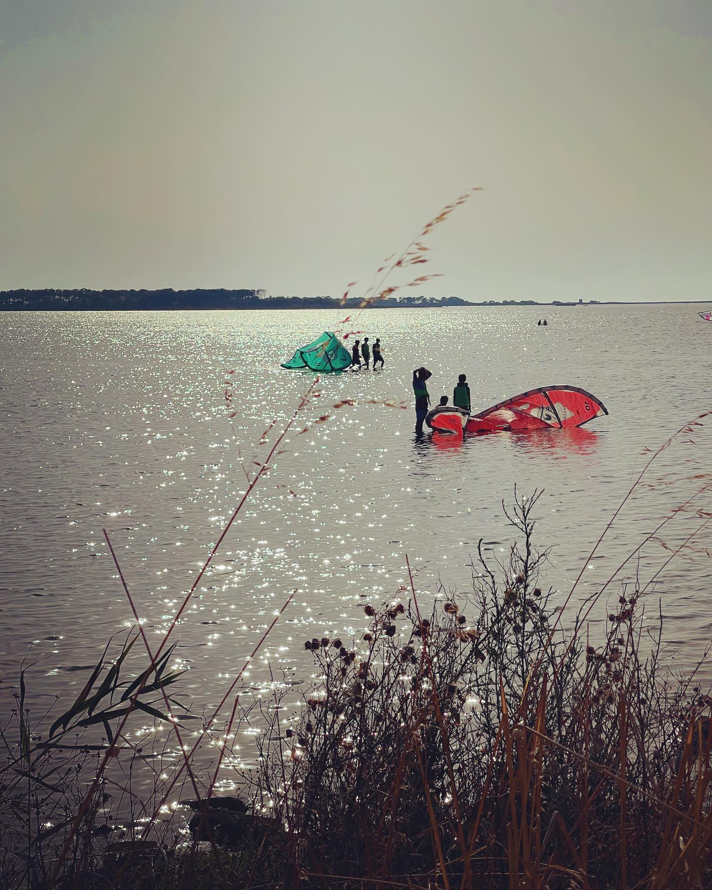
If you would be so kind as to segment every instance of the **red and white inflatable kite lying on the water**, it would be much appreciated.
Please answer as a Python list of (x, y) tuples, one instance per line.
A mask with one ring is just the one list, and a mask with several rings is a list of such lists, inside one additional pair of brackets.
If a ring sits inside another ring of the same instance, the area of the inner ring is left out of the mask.
[(445, 406), (434, 408), (425, 423), (440, 433), (520, 433), (583, 426), (608, 411), (602, 401), (578, 386), (542, 386), (500, 401), (479, 414)]

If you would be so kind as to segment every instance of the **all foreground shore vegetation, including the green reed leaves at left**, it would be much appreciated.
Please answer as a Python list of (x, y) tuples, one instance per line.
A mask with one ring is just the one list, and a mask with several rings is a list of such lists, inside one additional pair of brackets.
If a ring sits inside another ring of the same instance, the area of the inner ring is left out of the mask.
[(602, 639), (580, 621), (562, 631), (558, 597), (539, 587), (536, 499), (518, 499), (519, 542), (504, 564), (480, 554), (471, 591), (441, 590), (425, 614), (411, 583), (365, 607), (359, 638), (305, 641), (317, 671), (300, 713), (286, 691), (233, 711), (226, 763), (235, 721), (263, 729), (258, 769), (235, 766), (241, 799), (198, 787), (187, 760), (190, 809), (159, 821), (165, 789), (125, 796), (133, 818), (113, 839), (104, 774), (80, 813), (101, 752), (68, 733), (108, 723), (118, 756), (121, 701), (140, 689), (144, 715), (161, 717), (151, 696), (179, 680), (167, 658), (143, 682), (121, 678), (123, 659), (102, 664), (83, 691), (92, 708), (44, 742), (19, 702), (15, 732), (3, 728), (0, 885), (708, 886), (712, 700), (662, 666), (640, 586)]

